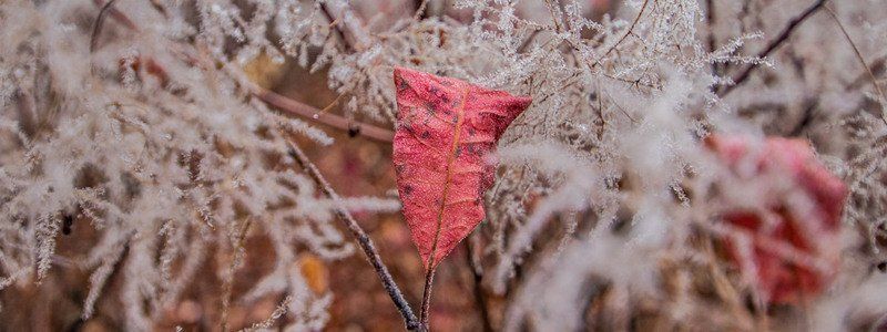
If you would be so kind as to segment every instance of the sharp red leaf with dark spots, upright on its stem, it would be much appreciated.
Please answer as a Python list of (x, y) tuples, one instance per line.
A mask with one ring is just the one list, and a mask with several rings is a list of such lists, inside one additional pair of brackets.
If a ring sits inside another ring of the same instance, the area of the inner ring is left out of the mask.
[(402, 68), (394, 79), (397, 189), (422, 263), (434, 269), (483, 220), (496, 168), (485, 156), (532, 100)]

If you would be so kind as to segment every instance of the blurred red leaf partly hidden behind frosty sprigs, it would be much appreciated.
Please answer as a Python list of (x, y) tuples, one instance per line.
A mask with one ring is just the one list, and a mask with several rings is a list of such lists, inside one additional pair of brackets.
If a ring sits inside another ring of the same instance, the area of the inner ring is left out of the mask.
[[(767, 138), (764, 146), (753, 148), (751, 139), (742, 136), (711, 136), (707, 145), (720, 159), (734, 170), (742, 168), (744, 159), (754, 162), (752, 173), (736, 172), (737, 176), (757, 177), (776, 174), (794, 183), (813, 206), (805, 214), (788, 208), (789, 197), (777, 196), (766, 210), (776, 217), (775, 225), (764, 222), (757, 211), (727, 209), (724, 220), (747, 231), (752, 239), (752, 263), (757, 277), (758, 290), (769, 303), (797, 303), (803, 298), (820, 293), (834, 279), (840, 255), (840, 214), (847, 188), (832, 175), (804, 139)], [(762, 194), (777, 188), (761, 188)], [(776, 191), (781, 193), (781, 191)], [(806, 222), (802, 222), (806, 221)], [(824, 269), (797, 264), (767, 249), (779, 243), (808, 255), (826, 263)], [(740, 261), (740, 252), (731, 241), (726, 247), (732, 259)], [(741, 268), (745, 268), (742, 267)], [(751, 267), (748, 267), (751, 268)]]

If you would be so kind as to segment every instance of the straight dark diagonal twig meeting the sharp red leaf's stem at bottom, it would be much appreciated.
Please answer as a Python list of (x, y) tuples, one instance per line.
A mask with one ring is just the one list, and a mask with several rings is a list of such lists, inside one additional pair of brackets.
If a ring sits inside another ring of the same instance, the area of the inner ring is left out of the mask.
[(348, 230), (354, 235), (357, 239), (358, 245), (360, 245), (360, 249), (364, 250), (364, 253), (369, 259), (369, 262), (373, 264), (373, 268), (376, 269), (376, 274), (379, 276), (381, 279), (381, 283), (385, 287), (385, 290), (388, 292), (388, 295), (391, 297), (391, 300), (395, 302), (397, 310), (400, 311), (400, 315), (404, 317), (404, 321), (406, 321), (407, 330), (420, 330), (419, 320), (416, 318), (416, 314), (412, 313), (412, 309), (409, 307), (409, 302), (404, 298), (404, 294), (400, 292), (400, 289), (397, 287), (397, 283), (391, 278), (391, 273), (388, 272), (388, 268), (381, 261), (381, 257), (379, 257), (379, 252), (376, 250), (376, 246), (373, 245), (373, 240), (367, 236), (360, 225), (357, 224), (357, 220), (351, 217), (351, 214), (345, 209), (341, 205), (341, 199), (333, 190), (333, 187), (329, 186), (329, 183), (320, 175), (320, 170), (317, 169), (317, 166), (312, 164), (308, 157), (305, 155), (302, 149), (295, 145), (289, 144), (289, 156), (298, 163), (298, 165), (312, 177), (312, 179), (317, 184), (320, 188), (320, 191), (326, 195), (327, 198), (334, 201), (335, 212), (336, 216), (339, 217), (341, 221), (345, 222), (345, 226), (348, 227)]

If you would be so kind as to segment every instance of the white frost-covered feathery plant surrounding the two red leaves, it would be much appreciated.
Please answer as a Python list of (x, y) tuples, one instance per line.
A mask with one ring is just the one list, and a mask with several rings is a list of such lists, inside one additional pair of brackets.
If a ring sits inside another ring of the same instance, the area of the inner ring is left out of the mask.
[[(293, 260), (354, 250), (333, 224), (343, 204), (316, 195), (287, 143), (336, 144), (313, 121), (390, 141), (391, 69), (409, 66), (533, 98), (467, 241), (480, 298), (508, 299), (480, 301), (504, 318), (492, 328), (754, 330), (771, 315), (839, 330), (887, 310), (871, 291), (887, 282), (881, 0), (380, 2), (0, 3), (0, 290), (86, 270), (89, 318), (121, 273), (126, 328), (147, 330), (216, 250), (231, 258), (220, 278), (235, 278), (244, 237), (262, 232), (274, 269), (239, 301), (286, 295), (254, 328), (289, 312), (292, 329), (320, 329), (332, 295)], [(248, 82), (256, 56), (325, 71), (345, 113)], [(809, 138), (848, 184), (846, 258), (808, 305), (767, 311), (754, 273), (718, 260), (720, 209), (762, 198), (706, 152), (712, 132)], [(72, 222), (98, 238), (60, 257)]]

